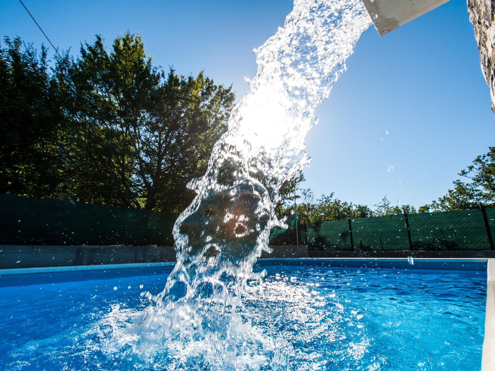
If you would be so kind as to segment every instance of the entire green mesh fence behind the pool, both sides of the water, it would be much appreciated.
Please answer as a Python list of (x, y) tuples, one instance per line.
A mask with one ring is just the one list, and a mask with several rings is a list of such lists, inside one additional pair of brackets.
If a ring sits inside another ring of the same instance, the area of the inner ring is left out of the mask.
[[(0, 244), (172, 246), (176, 218), (177, 214), (148, 210), (0, 194)], [(273, 228), (270, 245), (295, 245), (298, 236), (299, 244), (313, 251), (494, 248), (495, 208), (352, 219), (350, 223), (296, 223), (294, 216), (285, 218), (288, 228)]]

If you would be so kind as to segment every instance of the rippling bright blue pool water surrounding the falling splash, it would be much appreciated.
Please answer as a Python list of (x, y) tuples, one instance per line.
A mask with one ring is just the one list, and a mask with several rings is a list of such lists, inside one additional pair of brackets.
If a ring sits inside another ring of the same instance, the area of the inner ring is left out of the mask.
[[(265, 292), (245, 294), (242, 318), (283, 342), (284, 370), (479, 370), (486, 265), (472, 271), (384, 267), (264, 262), (257, 270), (267, 271)], [(155, 354), (150, 366), (139, 352), (119, 353), (105, 342), (119, 321), (148, 306), (140, 293), (161, 291), (168, 272), (1, 276), (0, 370), (177, 369), (166, 353)], [(277, 369), (272, 350), (255, 352), (243, 355), (242, 366), (206, 367), (198, 358), (183, 369)]]

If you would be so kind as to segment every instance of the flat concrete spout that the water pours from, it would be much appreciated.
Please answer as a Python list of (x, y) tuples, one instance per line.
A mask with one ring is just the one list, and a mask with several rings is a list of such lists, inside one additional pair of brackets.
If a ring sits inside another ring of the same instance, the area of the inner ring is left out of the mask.
[(380, 36), (423, 15), (448, 0), (363, 0)]

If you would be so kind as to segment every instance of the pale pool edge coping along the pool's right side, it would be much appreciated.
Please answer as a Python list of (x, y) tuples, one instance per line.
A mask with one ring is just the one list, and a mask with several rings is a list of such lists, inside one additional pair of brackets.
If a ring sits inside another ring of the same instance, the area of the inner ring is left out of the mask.
[(481, 371), (495, 370), (495, 259), (488, 259), (487, 307), (485, 312), (485, 336), (481, 356)]

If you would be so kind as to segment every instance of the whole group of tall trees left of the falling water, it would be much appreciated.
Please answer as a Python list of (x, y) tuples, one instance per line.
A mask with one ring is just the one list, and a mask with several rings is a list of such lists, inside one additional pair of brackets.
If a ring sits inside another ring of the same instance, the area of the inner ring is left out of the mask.
[(232, 87), (152, 65), (141, 35), (100, 36), (47, 65), (22, 42), (1, 49), (0, 191), (181, 211), (227, 129)]

